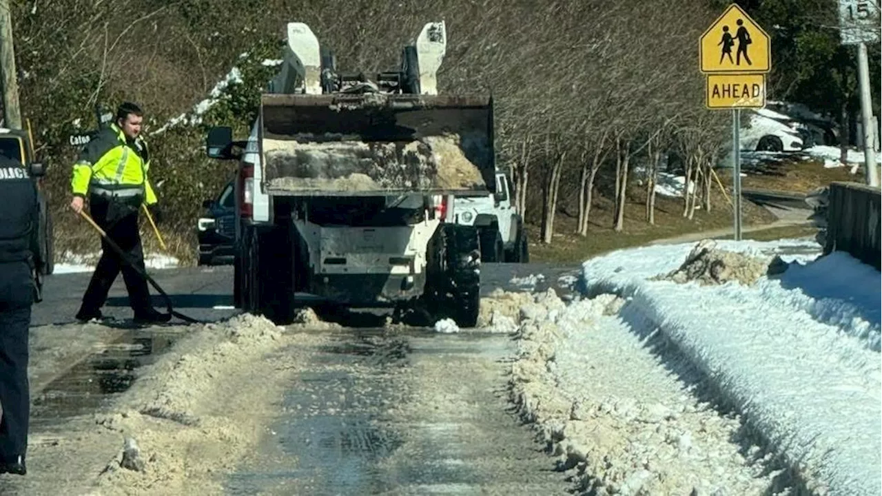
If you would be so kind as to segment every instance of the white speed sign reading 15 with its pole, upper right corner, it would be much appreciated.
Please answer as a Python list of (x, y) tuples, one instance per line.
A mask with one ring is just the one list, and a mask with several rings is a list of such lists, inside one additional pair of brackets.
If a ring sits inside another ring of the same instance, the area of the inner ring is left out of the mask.
[(867, 43), (879, 41), (879, 8), (877, 0), (839, 0), (839, 27), (843, 45), (857, 45), (857, 82), (861, 90), (861, 120), (863, 121), (863, 160), (867, 184), (878, 186), (876, 170), (877, 129), (873, 127), (873, 109), (870, 95), (870, 64)]

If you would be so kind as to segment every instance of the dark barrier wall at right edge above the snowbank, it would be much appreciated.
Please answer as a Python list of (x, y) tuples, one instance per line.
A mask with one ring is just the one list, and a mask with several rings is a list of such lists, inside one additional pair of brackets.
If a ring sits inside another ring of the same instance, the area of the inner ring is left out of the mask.
[(882, 188), (830, 184), (824, 253), (848, 252), (882, 269)]

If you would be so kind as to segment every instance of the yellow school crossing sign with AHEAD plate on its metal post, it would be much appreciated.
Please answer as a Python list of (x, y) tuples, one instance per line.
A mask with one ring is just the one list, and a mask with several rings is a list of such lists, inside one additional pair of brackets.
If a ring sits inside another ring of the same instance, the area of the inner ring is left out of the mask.
[(741, 7), (731, 4), (701, 34), (699, 68), (706, 75), (706, 108), (732, 111), (735, 240), (741, 241), (741, 109), (766, 106), (766, 73), (772, 69), (769, 35)]

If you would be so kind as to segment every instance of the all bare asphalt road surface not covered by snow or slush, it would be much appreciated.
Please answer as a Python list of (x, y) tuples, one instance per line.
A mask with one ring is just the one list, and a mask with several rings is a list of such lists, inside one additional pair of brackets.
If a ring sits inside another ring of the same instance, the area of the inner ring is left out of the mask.
[[(569, 292), (578, 270), (488, 264), (482, 267), (482, 293), (551, 286)], [(232, 267), (151, 274), (179, 312), (204, 320), (239, 312), (228, 308)], [(541, 280), (529, 277), (538, 274)], [(74, 323), (90, 275), (49, 276), (32, 325)], [(159, 297), (154, 304), (164, 307)], [(131, 316), (121, 277), (104, 312)], [(389, 333), (370, 328), (370, 321), (344, 329), (336, 344), (310, 353), (309, 370), (295, 378), (280, 417), (268, 426), (278, 435), (222, 476), (228, 494), (566, 493), (564, 476), (553, 470), (527, 427), (506, 411), (505, 362), (515, 351), (510, 336), (413, 327)], [(34, 391), (32, 433), (51, 432), (66, 418), (101, 409), (131, 386), (138, 367), (175, 340), (161, 327), (133, 329), (101, 353), (84, 357)], [(470, 378), (467, 384), (463, 375)], [(11, 489), (7, 482), (14, 481), (0, 480), (0, 492)]]

